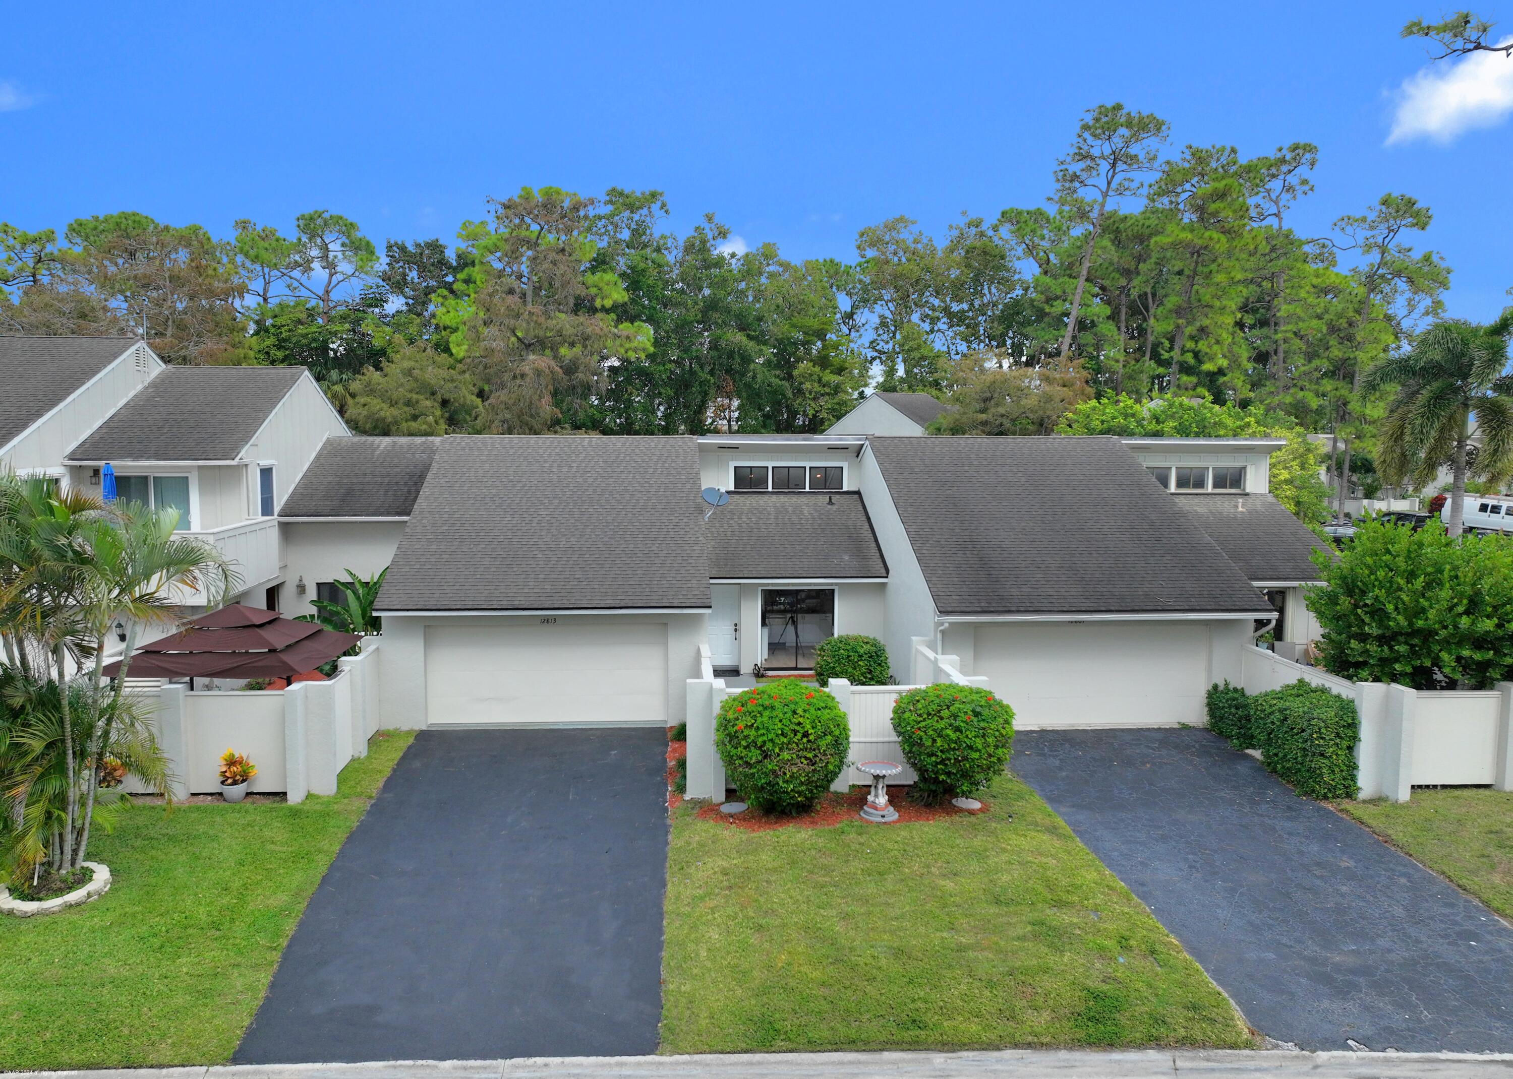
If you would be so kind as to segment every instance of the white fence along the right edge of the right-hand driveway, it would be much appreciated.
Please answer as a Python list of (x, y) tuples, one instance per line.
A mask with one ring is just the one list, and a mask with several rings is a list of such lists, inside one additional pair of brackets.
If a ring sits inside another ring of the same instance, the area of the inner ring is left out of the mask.
[(1513, 683), (1480, 692), (1425, 691), (1350, 682), (1247, 645), (1245, 692), (1280, 689), (1298, 679), (1356, 701), (1362, 798), (1406, 802), (1416, 786), (1490, 786), (1513, 790)]

